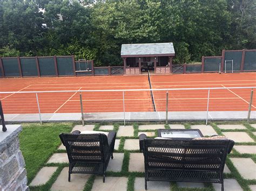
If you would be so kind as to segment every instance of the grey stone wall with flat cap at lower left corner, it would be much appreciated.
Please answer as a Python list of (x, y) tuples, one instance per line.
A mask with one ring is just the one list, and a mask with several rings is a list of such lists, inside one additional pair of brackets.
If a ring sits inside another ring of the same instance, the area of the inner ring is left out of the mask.
[(6, 132), (0, 131), (0, 190), (29, 190), (25, 161), (19, 150), (18, 133), (22, 126), (6, 125), (6, 128)]

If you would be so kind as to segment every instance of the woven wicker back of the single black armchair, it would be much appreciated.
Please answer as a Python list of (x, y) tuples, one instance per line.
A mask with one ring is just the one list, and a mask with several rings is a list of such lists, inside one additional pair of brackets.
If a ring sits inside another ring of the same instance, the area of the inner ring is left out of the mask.
[(104, 134), (61, 134), (70, 162), (103, 162), (109, 147)]

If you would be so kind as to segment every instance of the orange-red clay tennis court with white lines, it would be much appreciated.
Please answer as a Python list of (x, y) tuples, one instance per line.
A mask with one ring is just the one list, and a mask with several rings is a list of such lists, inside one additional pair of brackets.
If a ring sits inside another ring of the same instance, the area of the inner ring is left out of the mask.
[[(255, 87), (255, 73), (151, 75), (152, 89)], [(80, 112), (81, 90), (150, 89), (147, 75), (35, 77), (0, 79), (0, 92), (65, 91), (38, 93), (42, 113)], [(208, 90), (169, 90), (169, 111), (206, 111)], [(123, 91), (82, 92), (84, 112), (123, 112)], [(153, 95), (153, 96), (152, 96)], [(249, 89), (210, 90), (210, 111), (246, 111)], [(152, 98), (153, 97), (153, 98)], [(37, 114), (35, 93), (0, 94), (5, 114)], [(124, 91), (125, 111), (165, 111), (166, 90)], [(256, 95), (252, 110), (256, 110)]]

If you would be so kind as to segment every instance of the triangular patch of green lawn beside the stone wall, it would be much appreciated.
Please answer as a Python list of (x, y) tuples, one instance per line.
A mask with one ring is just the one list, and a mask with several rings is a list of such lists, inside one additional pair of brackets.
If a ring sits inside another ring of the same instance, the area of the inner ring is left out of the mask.
[(59, 134), (70, 132), (72, 123), (38, 123), (22, 124), (19, 134), (21, 151), (26, 164), (28, 182), (35, 177), (43, 164), (51, 157), (60, 145)]

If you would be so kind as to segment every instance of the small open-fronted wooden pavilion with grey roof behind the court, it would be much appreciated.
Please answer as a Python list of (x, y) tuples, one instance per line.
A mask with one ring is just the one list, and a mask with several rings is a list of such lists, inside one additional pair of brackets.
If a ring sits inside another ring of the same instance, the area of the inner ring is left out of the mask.
[(156, 74), (172, 73), (172, 43), (123, 44), (121, 57), (125, 74), (141, 74), (154, 70)]

